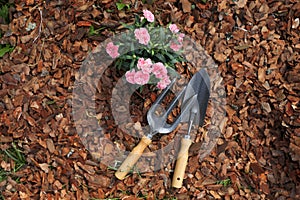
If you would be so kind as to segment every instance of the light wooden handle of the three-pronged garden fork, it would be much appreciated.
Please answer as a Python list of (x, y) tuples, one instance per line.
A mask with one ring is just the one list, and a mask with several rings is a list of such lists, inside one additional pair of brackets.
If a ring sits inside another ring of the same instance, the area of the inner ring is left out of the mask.
[(124, 160), (122, 165), (119, 167), (117, 172), (115, 173), (115, 176), (123, 180), (125, 176), (129, 173), (129, 171), (132, 169), (134, 164), (138, 161), (138, 159), (143, 154), (145, 148), (151, 143), (151, 139), (147, 137), (142, 137), (140, 143), (132, 149), (128, 157)]

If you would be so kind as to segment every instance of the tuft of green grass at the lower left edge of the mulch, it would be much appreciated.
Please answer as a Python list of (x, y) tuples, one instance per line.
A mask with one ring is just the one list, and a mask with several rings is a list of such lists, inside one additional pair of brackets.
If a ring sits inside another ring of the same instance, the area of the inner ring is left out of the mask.
[[(24, 165), (26, 165), (26, 159), (24, 153), (12, 143), (12, 147), (6, 150), (0, 151), (0, 157), (7, 163), (13, 162), (13, 168), (10, 171), (5, 171), (0, 167), (0, 182), (6, 180), (8, 176), (14, 176), (14, 173), (19, 171)], [(14, 178), (18, 181), (18, 177)]]

